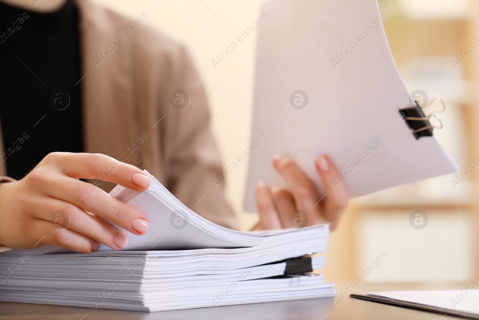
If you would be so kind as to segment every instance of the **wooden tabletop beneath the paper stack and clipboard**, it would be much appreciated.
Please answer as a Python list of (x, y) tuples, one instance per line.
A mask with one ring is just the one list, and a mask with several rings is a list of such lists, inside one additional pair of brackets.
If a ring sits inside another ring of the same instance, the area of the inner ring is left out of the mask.
[[(349, 283), (337, 283), (341, 292)], [(462, 289), (468, 284), (359, 284), (354, 293), (390, 290), (446, 290)], [(62, 307), (39, 304), (0, 302), (0, 320), (446, 320), (458, 319), (443, 314), (399, 308), (353, 298), (346, 298), (333, 307), (333, 299), (306, 299), (282, 302), (256, 303), (218, 308), (197, 308), (163, 312), (133, 312), (107, 309)], [(444, 316), (444, 317), (443, 317)], [(441, 318), (443, 317), (443, 318)]]

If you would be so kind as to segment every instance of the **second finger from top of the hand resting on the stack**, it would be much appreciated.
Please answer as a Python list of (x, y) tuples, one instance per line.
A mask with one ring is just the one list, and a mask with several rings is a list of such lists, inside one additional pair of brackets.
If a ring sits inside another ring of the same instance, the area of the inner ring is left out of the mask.
[[(36, 175), (38, 173), (35, 173), (34, 177)], [(39, 180), (41, 181), (36, 181), (37, 190), (42, 190), (52, 198), (95, 213), (135, 235), (143, 235), (148, 231), (148, 219), (137, 208), (115, 199), (90, 183), (63, 175), (60, 177), (49, 175)]]

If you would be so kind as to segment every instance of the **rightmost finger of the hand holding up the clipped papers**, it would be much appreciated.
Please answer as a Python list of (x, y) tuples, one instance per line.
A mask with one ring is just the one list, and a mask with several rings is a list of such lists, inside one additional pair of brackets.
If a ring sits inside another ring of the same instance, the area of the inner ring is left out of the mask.
[(327, 156), (319, 156), (314, 164), (326, 191), (326, 197), (319, 203), (321, 213), (331, 221), (331, 229), (334, 229), (348, 203), (348, 190), (344, 183), (338, 183), (339, 172)]

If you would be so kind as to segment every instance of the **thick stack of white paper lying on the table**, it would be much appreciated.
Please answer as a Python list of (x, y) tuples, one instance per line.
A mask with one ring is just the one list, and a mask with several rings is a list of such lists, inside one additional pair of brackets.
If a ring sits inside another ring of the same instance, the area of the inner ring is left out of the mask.
[[(322, 275), (284, 276), (286, 259), (325, 252), (328, 225), (230, 230), (151, 180), (144, 192), (121, 186), (111, 192), (148, 217), (146, 235), (123, 230), (129, 244), (120, 251), (102, 246), (71, 253), (44, 246), (1, 253), (0, 300), (160, 311), (335, 295)], [(324, 257), (314, 256), (310, 264), (322, 269)]]

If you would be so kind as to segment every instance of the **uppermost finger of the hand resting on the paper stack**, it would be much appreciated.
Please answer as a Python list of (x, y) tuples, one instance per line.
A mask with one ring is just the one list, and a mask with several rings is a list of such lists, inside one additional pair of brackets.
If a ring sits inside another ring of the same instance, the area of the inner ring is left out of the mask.
[(45, 162), (54, 163), (62, 173), (75, 179), (97, 178), (137, 191), (145, 190), (150, 184), (150, 178), (136, 166), (105, 154), (55, 152), (48, 154)]

